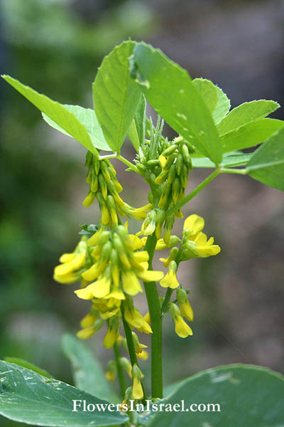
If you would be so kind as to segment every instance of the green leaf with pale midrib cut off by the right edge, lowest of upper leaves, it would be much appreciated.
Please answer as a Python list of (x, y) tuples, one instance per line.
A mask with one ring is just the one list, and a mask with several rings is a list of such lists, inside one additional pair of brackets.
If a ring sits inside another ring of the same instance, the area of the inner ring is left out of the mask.
[(284, 128), (253, 153), (247, 170), (252, 178), (284, 191)]

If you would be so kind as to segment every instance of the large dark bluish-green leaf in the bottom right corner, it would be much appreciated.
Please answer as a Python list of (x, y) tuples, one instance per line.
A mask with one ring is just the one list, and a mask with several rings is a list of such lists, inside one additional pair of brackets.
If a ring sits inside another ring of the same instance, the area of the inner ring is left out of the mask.
[(182, 381), (163, 400), (172, 407), (184, 401), (185, 411), (156, 412), (149, 427), (282, 427), (283, 394), (284, 377), (270, 369), (241, 364), (207, 369)]

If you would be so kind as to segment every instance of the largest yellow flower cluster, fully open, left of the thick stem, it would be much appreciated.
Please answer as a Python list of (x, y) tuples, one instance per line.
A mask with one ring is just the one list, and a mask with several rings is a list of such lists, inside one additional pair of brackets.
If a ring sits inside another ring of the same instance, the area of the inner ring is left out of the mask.
[(149, 323), (134, 307), (132, 296), (142, 292), (139, 280), (159, 281), (163, 272), (148, 270), (149, 255), (141, 251), (142, 248), (143, 241), (119, 225), (112, 231), (100, 228), (87, 241), (84, 237), (74, 253), (60, 257), (55, 280), (61, 283), (82, 280), (82, 288), (75, 293), (83, 300), (92, 300), (92, 309), (82, 320), (78, 337), (90, 337), (106, 321), (104, 346), (113, 347), (119, 338), (122, 301), (124, 317), (131, 329), (152, 332)]

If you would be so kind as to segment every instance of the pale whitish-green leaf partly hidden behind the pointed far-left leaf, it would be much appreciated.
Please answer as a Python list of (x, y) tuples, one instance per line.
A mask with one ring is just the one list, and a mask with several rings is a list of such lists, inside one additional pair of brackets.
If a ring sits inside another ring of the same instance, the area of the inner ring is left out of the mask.
[[(112, 151), (107, 144), (107, 141), (104, 139), (104, 134), (102, 132), (102, 127), (99, 125), (99, 121), (97, 120), (97, 116), (94, 110), (90, 108), (80, 107), (80, 105), (67, 105), (63, 104), (62, 107), (66, 108), (69, 112), (72, 112), (75, 117), (79, 120), (80, 123), (87, 130), (89, 137), (92, 140), (92, 144), (97, 149), (103, 149), (104, 151)], [(60, 127), (57, 123), (50, 119), (47, 115), (43, 113), (43, 119), (54, 129), (59, 130), (63, 134), (68, 137), (72, 137), (68, 132), (66, 132), (62, 127)]]

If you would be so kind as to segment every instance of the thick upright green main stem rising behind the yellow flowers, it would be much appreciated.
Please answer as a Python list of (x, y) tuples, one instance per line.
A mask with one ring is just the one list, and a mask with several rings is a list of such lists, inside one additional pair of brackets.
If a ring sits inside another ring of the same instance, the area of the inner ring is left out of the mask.
[[(145, 250), (149, 254), (149, 270), (153, 270), (153, 255), (157, 238), (155, 234), (148, 236)], [(163, 397), (163, 364), (162, 364), (162, 319), (160, 312), (160, 299), (155, 282), (144, 282), (149, 314), (151, 319), (151, 384), (152, 397)]]

